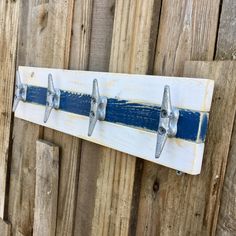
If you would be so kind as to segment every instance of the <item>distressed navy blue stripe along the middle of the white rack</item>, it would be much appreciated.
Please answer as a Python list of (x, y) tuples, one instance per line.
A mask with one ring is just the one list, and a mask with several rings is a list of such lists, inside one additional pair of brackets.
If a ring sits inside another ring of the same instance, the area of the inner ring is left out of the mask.
[[(45, 105), (46, 95), (46, 88), (28, 86), (26, 101), (29, 103)], [(89, 116), (90, 100), (90, 95), (61, 90), (59, 109), (78, 115)], [(159, 123), (159, 114), (159, 106), (131, 103), (126, 100), (108, 98), (105, 120), (156, 132)], [(204, 114), (202, 120), (200, 119), (200, 116), (200, 112), (180, 109), (176, 137), (194, 142), (204, 142), (208, 115), (207, 113)], [(198, 135), (198, 132), (200, 132), (200, 135)]]

